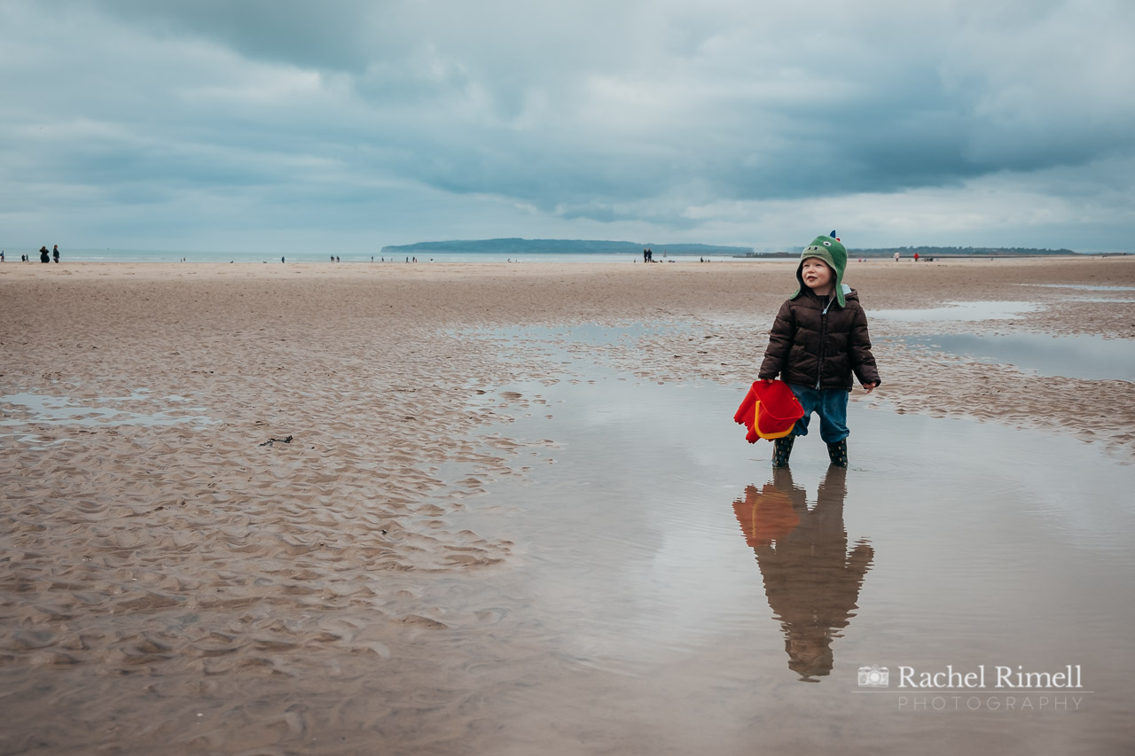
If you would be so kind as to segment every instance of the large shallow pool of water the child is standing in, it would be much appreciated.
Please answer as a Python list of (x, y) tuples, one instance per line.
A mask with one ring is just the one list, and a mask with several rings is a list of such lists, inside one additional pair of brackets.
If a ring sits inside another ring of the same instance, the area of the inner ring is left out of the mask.
[[(854, 403), (849, 470), (805, 437), (774, 473), (772, 445), (732, 422), (745, 387), (587, 371), (595, 383), (507, 387), (552, 417), (498, 430), (557, 447), (469, 499), (459, 524), (516, 543), (516, 562), (426, 588), (506, 618), (445, 641), (484, 682), (472, 751), (1132, 742), (1135, 683), (1117, 663), (1135, 655), (1130, 464), (1068, 437)], [(860, 684), (873, 666), (888, 686)], [(947, 670), (986, 684), (900, 688)], [(1066, 671), (1078, 687), (1052, 687)], [(1010, 672), (1050, 684), (998, 688)]]

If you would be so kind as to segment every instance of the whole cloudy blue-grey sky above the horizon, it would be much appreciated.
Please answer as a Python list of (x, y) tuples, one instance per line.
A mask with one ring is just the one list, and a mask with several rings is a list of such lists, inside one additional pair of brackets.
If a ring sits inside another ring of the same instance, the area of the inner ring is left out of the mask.
[(1135, 251), (1129, 0), (0, 2), (0, 243)]

